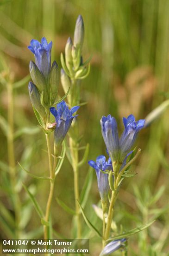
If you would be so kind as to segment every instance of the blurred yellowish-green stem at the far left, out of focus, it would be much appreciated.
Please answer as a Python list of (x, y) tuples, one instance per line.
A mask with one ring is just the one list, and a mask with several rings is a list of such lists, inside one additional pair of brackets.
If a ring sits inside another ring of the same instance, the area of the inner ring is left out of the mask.
[(13, 85), (9, 81), (7, 84), (7, 94), (8, 94), (8, 134), (7, 134), (7, 151), (8, 151), (8, 162), (9, 162), (9, 172), (10, 172), (10, 182), (13, 196), (14, 212), (15, 212), (15, 229), (16, 238), (19, 238), (19, 223), (20, 223), (20, 199), (16, 189), (17, 179), (16, 179), (16, 168), (15, 168), (15, 155), (14, 155), (14, 143), (13, 143)]

